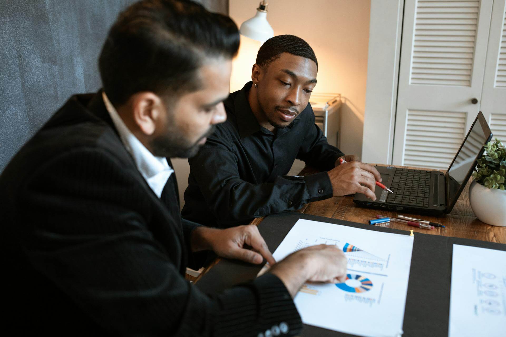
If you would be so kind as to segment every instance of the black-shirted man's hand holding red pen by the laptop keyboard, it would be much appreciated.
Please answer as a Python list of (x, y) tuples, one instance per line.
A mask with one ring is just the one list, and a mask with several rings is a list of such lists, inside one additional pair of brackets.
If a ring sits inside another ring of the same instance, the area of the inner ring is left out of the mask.
[(376, 200), (374, 190), (376, 180), (381, 182), (381, 175), (374, 166), (353, 161), (338, 165), (327, 173), (334, 197), (362, 193), (367, 198)]

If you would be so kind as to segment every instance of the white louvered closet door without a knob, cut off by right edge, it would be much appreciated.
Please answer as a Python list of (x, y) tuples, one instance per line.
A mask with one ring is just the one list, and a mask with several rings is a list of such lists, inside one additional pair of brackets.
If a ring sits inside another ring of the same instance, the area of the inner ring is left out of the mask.
[(506, 144), (506, 7), (494, 0), (481, 110), (495, 137)]

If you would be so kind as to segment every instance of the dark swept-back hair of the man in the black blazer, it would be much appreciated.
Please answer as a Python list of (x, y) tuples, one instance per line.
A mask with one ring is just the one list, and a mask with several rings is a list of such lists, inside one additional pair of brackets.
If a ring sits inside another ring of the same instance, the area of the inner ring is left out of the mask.
[(139, 91), (159, 95), (195, 91), (205, 57), (233, 58), (235, 23), (187, 0), (143, 0), (122, 12), (99, 58), (104, 91), (123, 104)]

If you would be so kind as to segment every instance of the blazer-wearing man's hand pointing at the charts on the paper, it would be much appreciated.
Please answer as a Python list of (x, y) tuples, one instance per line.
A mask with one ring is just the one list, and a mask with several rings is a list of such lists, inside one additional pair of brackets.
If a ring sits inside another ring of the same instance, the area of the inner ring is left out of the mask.
[(307, 281), (338, 283), (346, 279), (347, 259), (335, 246), (318, 245), (294, 252), (269, 270), (286, 286), (293, 298)]

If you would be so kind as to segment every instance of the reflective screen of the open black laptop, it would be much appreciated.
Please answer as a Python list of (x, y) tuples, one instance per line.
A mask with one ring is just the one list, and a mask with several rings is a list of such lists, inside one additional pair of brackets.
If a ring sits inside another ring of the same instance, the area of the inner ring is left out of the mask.
[(460, 195), (462, 185), (466, 185), (471, 176), (472, 169), (476, 166), (478, 156), (483, 154), (483, 146), (487, 143), (492, 134), (488, 128), (487, 122), (480, 112), (476, 117), (471, 130), (462, 142), (460, 150), (457, 152), (453, 162), (447, 171), (447, 201), (453, 205)]

